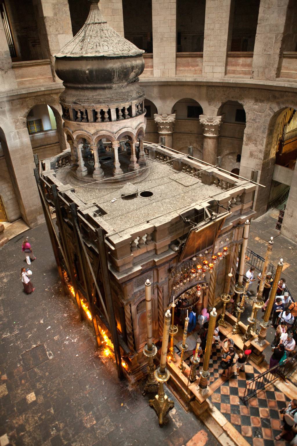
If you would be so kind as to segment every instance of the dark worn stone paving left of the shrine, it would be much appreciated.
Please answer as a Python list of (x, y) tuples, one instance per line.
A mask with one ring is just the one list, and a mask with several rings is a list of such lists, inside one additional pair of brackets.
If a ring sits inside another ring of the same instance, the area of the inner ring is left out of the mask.
[[(30, 295), (20, 281), (24, 235), (37, 256)], [(149, 396), (118, 381), (113, 363), (96, 351), (89, 326), (61, 292), (45, 225), (10, 240), (0, 253), (1, 446), (180, 446), (191, 438), (201, 446), (218, 444), (172, 395), (175, 408), (160, 429)]]

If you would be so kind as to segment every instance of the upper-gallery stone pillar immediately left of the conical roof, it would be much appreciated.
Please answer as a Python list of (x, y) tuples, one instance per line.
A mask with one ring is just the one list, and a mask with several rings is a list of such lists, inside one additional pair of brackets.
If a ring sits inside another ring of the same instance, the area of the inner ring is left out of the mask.
[(54, 65), (56, 54), (73, 38), (68, 0), (33, 0), (43, 52), (51, 59), (53, 80), (56, 76)]

